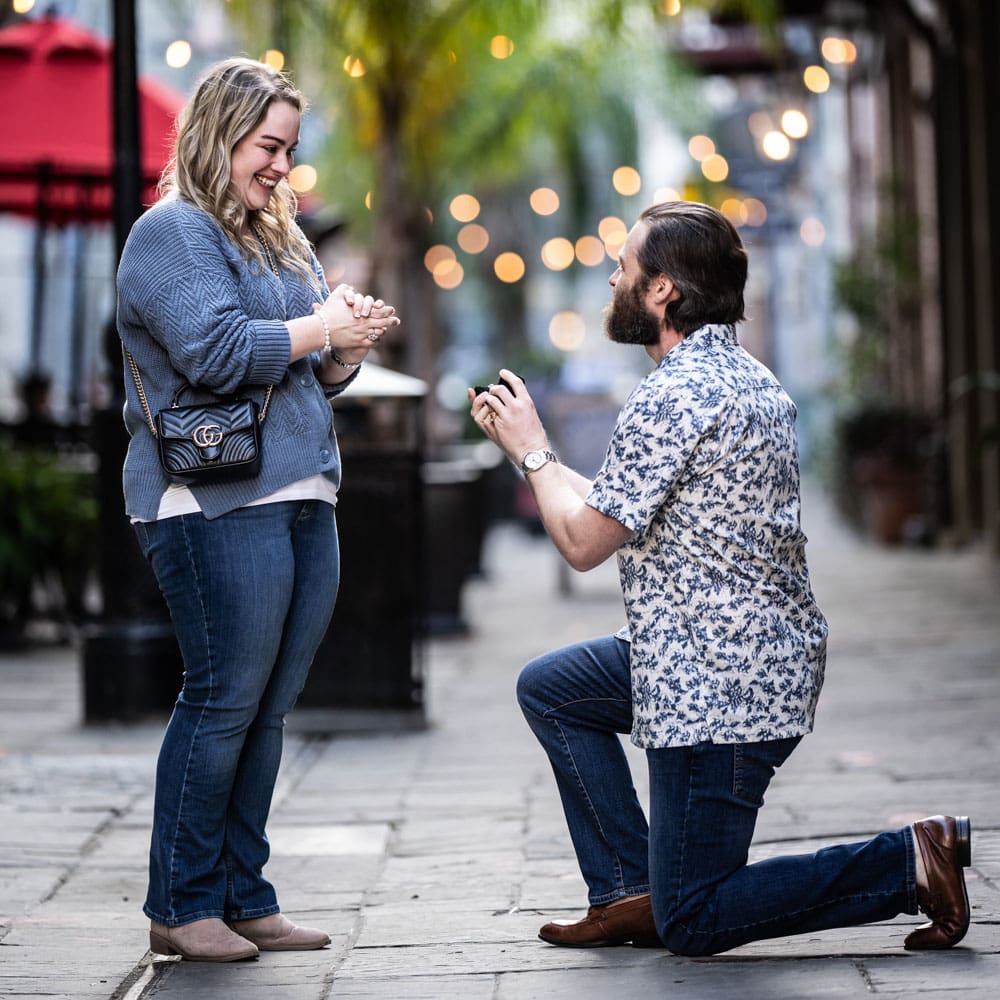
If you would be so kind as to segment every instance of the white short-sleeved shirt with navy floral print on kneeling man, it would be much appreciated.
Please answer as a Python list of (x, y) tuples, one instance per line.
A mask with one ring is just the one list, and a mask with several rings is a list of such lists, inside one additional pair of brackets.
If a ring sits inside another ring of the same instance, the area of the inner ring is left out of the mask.
[(729, 326), (705, 326), (632, 392), (587, 503), (618, 552), (632, 740), (744, 743), (812, 729), (827, 625), (799, 526), (795, 406)]

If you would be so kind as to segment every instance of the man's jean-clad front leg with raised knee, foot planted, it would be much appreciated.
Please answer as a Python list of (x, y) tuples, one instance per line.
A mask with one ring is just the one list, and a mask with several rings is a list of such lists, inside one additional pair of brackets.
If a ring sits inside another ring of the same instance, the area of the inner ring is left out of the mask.
[(632, 727), (629, 644), (606, 636), (540, 656), (517, 698), (555, 772), (591, 905), (648, 892), (648, 826), (618, 735)]

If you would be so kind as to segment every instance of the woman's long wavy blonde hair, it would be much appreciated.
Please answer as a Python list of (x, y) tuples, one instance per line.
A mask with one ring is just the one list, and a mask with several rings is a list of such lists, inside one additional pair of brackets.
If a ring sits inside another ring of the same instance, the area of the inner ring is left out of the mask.
[(309, 245), (295, 225), (298, 202), (287, 178), (259, 212), (249, 211), (231, 185), (233, 151), (263, 121), (273, 101), (285, 101), (300, 114), (307, 109), (288, 77), (265, 63), (240, 57), (212, 66), (177, 116), (173, 154), (159, 191), (208, 212), (247, 260), (263, 269), (267, 260), (254, 233), (260, 230), (275, 256), (318, 288)]

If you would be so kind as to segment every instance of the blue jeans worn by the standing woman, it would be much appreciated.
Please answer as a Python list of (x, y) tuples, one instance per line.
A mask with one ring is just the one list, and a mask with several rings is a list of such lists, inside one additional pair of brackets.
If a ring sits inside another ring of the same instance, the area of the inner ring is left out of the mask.
[(336, 600), (334, 508), (286, 501), (135, 528), (184, 660), (156, 767), (144, 912), (168, 927), (277, 913), (264, 824), (285, 714)]

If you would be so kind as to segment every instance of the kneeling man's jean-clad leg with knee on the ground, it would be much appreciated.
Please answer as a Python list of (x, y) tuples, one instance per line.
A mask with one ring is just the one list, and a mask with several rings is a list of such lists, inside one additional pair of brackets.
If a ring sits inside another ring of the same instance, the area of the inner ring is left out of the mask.
[(747, 865), (757, 811), (797, 739), (647, 751), (653, 911), (677, 954), (916, 912), (909, 831)]

